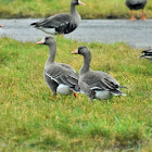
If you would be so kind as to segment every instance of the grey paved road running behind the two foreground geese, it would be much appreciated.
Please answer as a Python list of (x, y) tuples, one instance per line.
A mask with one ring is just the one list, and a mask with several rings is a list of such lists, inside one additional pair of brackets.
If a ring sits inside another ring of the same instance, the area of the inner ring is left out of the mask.
[[(29, 26), (37, 18), (0, 20), (0, 37), (11, 37), (20, 41), (34, 41), (47, 34)], [(152, 20), (131, 22), (128, 20), (84, 20), (79, 27), (65, 36), (79, 41), (113, 43), (125, 41), (135, 48), (152, 47)]]

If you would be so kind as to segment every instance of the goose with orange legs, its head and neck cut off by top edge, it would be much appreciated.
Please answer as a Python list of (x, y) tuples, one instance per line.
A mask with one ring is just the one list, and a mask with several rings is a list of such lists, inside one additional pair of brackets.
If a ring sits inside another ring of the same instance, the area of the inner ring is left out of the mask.
[(136, 20), (132, 10), (140, 10), (140, 9), (142, 9), (141, 20), (147, 20), (143, 11), (145, 4), (147, 4), (147, 0), (126, 0), (126, 5), (130, 9), (131, 21)]

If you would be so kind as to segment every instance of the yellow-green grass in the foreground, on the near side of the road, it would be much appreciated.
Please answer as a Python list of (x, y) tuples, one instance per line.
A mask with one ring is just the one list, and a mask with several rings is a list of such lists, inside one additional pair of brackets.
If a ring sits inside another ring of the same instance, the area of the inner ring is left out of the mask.
[(84, 43), (55, 37), (56, 61), (77, 72), (86, 45), (91, 68), (114, 76), (127, 97), (107, 101), (85, 94), (54, 100), (42, 77), (48, 47), (0, 38), (0, 151), (141, 151), (152, 149), (152, 64), (125, 43)]

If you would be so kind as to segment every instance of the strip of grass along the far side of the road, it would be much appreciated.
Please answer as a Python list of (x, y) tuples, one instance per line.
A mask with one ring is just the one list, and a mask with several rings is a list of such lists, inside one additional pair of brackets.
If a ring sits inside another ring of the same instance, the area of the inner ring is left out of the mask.
[[(86, 7), (77, 7), (83, 18), (129, 18), (126, 0), (81, 0)], [(69, 12), (71, 0), (0, 0), (0, 17), (47, 17), (56, 13)], [(20, 7), (18, 7), (20, 5)], [(152, 18), (152, 1), (145, 7), (148, 18)], [(136, 11), (141, 16), (141, 11)]]

